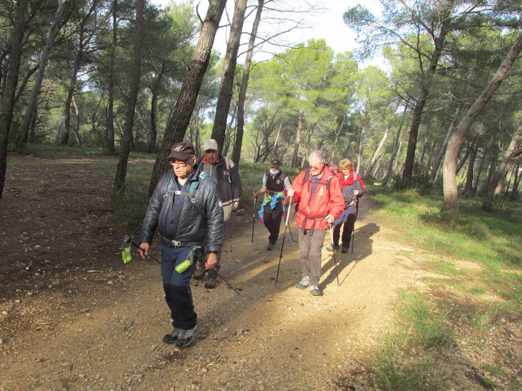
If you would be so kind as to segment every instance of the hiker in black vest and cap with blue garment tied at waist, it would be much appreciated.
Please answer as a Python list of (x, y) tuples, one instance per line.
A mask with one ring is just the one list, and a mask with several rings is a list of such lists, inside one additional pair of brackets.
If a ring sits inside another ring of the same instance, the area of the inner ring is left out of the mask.
[(273, 159), (270, 162), (270, 170), (263, 176), (263, 186), (254, 192), (254, 197), (257, 197), (258, 194), (265, 194), (261, 210), (259, 210), (259, 219), (270, 232), (267, 250), (274, 250), (274, 245), (279, 237), (283, 205), (286, 204), (286, 194), (291, 185), (288, 175), (281, 172), (281, 162)]

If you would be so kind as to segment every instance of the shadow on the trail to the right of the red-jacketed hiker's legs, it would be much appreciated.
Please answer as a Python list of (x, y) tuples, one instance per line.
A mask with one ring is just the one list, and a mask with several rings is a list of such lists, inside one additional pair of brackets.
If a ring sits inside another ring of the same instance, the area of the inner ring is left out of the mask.
[[(337, 276), (339, 276), (339, 285), (342, 285), (353, 268), (364, 258), (372, 254), (372, 236), (377, 232), (379, 232), (379, 226), (375, 223), (367, 223), (365, 226), (355, 229), (353, 242), (350, 244), (350, 252), (348, 254), (342, 254), (337, 250), (335, 252), (335, 259), (334, 254), (330, 253), (328, 262), (321, 266), (321, 269), (330, 271), (326, 278), (319, 283), (319, 287), (324, 289), (325, 286), (336, 281)], [(336, 263), (337, 267), (334, 267)], [(345, 274), (347, 269), (348, 272)]]

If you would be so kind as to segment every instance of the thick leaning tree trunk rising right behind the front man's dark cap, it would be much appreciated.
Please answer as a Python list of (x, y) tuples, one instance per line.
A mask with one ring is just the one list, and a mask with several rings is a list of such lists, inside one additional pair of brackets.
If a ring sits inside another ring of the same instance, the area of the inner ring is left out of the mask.
[(160, 175), (168, 169), (169, 162), (167, 161), (167, 156), (169, 156), (170, 147), (173, 143), (182, 141), (185, 136), (192, 112), (194, 111), (199, 88), (208, 67), (210, 54), (212, 53), (212, 44), (219, 27), (219, 20), (226, 3), (227, 0), (209, 0), (207, 15), (205, 16), (203, 26), (201, 26), (201, 32), (199, 33), (191, 63), (183, 78), (180, 96), (176, 100), (169, 124), (165, 129), (163, 144), (154, 164), (149, 184), (150, 194), (154, 191)]

